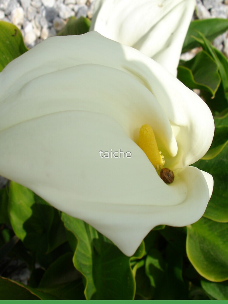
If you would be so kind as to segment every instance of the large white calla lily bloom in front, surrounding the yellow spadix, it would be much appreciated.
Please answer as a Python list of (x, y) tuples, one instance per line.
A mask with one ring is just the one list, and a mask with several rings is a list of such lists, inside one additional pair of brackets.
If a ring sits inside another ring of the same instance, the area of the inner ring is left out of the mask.
[[(175, 174), (170, 185), (138, 146), (145, 124)], [(203, 215), (213, 179), (189, 165), (213, 133), (198, 95), (97, 32), (47, 39), (0, 73), (0, 174), (129, 256), (155, 226), (185, 226)], [(111, 149), (131, 157), (101, 157)]]

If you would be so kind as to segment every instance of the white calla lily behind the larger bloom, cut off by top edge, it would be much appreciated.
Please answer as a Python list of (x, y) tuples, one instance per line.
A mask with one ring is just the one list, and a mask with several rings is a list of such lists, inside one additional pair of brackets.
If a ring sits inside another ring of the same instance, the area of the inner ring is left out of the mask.
[(96, 0), (90, 30), (134, 47), (174, 76), (195, 0)]

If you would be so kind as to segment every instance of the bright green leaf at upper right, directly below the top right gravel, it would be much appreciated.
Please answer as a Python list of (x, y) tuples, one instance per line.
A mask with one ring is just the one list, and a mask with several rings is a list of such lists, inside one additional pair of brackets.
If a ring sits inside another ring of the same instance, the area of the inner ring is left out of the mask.
[(228, 29), (228, 20), (222, 18), (212, 18), (204, 20), (194, 20), (190, 23), (188, 32), (183, 44), (182, 53), (199, 46), (192, 36), (200, 38), (197, 32), (201, 32), (209, 41), (213, 41), (217, 36)]

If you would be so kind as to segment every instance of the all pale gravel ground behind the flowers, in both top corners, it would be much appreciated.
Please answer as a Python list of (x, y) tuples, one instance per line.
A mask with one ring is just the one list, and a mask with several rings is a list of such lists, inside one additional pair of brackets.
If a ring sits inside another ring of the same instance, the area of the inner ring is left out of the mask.
[[(71, 16), (92, 18), (95, 0), (0, 0), (0, 20), (15, 24), (27, 47), (55, 36)], [(194, 19), (228, 18), (228, 0), (196, 0)], [(214, 45), (228, 57), (228, 32)]]

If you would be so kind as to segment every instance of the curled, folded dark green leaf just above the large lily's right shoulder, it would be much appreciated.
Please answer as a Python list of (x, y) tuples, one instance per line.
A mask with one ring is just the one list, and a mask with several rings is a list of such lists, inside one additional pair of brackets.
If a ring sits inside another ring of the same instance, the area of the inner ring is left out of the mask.
[(190, 89), (200, 89), (211, 93), (214, 97), (221, 78), (218, 66), (205, 51), (199, 52), (189, 61), (181, 61), (177, 78)]

